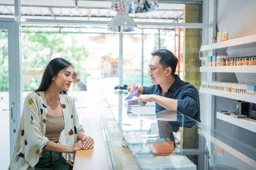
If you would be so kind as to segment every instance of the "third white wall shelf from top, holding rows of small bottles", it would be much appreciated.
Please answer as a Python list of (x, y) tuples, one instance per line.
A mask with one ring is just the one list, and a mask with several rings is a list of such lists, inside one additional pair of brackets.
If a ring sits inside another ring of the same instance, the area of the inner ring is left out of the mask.
[(205, 87), (200, 87), (200, 92), (205, 94), (211, 94), (214, 96), (220, 96), (220, 97), (226, 97), (229, 99), (236, 99), (238, 101), (247, 101), (250, 103), (256, 103), (256, 96), (254, 95), (248, 95), (248, 94), (239, 94), (235, 92), (227, 92), (223, 90), (215, 90), (215, 89), (209, 89)]

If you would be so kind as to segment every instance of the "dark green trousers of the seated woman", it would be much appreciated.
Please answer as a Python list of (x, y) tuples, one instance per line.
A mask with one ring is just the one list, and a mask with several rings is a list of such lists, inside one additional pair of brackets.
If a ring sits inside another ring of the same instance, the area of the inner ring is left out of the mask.
[(35, 166), (35, 170), (40, 169), (60, 169), (60, 170), (72, 170), (72, 166), (66, 163), (66, 160), (62, 157), (60, 152), (52, 152), (44, 150), (38, 163)]

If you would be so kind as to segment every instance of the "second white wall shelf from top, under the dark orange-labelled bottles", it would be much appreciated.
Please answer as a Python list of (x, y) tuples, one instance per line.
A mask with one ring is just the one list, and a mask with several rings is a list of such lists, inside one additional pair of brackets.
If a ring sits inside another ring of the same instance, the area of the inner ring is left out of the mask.
[(200, 72), (211, 73), (256, 73), (256, 66), (204, 66)]

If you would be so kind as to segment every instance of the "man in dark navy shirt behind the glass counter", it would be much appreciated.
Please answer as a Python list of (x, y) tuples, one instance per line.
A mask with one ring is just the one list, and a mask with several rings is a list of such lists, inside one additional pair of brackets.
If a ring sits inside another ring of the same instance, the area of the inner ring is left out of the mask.
[[(136, 94), (141, 106), (147, 102), (156, 103), (156, 113), (162, 110), (173, 110), (183, 113), (200, 122), (200, 103), (198, 90), (188, 82), (180, 80), (175, 74), (178, 59), (172, 52), (166, 49), (155, 50), (148, 63), (148, 75), (153, 85), (139, 87)], [(135, 83), (127, 86), (131, 92)]]

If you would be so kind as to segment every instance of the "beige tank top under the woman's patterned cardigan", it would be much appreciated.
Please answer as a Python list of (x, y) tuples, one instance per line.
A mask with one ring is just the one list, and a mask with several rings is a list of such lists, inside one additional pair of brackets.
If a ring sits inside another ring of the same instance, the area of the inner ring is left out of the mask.
[(65, 127), (63, 115), (52, 116), (47, 114), (45, 124), (45, 137), (50, 141), (59, 139), (60, 133)]

